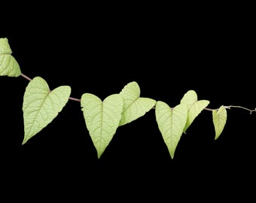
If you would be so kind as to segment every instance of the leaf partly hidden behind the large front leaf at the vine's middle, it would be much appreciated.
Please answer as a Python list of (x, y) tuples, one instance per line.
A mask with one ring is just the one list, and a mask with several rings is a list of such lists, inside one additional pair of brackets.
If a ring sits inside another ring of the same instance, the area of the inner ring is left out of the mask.
[(140, 89), (136, 82), (124, 86), (120, 95), (123, 97), (123, 114), (119, 126), (144, 116), (157, 102), (152, 98), (139, 97)]

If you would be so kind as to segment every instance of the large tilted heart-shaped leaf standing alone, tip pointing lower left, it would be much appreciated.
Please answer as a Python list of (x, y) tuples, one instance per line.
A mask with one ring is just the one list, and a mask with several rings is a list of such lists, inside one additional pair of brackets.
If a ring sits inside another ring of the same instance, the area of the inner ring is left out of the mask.
[(52, 122), (68, 102), (70, 93), (70, 86), (59, 86), (50, 91), (41, 77), (29, 81), (23, 97), (23, 144)]

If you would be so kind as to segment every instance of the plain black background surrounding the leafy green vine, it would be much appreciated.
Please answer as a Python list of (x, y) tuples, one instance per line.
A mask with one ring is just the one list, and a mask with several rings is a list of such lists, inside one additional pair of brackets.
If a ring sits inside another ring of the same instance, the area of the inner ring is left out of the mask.
[[(209, 108), (254, 109), (255, 32), (248, 8), (74, 4), (13, 13), (8, 5), (0, 37), (8, 38), (23, 74), (43, 77), (50, 89), (69, 85), (74, 98), (90, 92), (103, 100), (136, 81), (141, 96), (171, 107), (194, 89)], [(120, 201), (252, 194), (254, 112), (227, 110), (224, 132), (215, 141), (212, 112), (203, 111), (171, 159), (152, 109), (118, 128), (97, 159), (80, 103), (71, 100), (21, 145), (28, 82), (0, 78), (5, 189), (57, 198), (93, 193), (95, 199)]]

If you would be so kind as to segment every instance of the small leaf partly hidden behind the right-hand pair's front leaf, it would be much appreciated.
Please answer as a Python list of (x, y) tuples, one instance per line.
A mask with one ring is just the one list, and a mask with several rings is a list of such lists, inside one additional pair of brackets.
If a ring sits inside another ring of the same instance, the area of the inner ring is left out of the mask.
[(186, 133), (187, 128), (193, 123), (195, 118), (209, 105), (208, 100), (197, 100), (197, 93), (194, 90), (189, 90), (181, 98), (181, 104), (187, 105), (187, 123), (184, 127), (184, 133)]

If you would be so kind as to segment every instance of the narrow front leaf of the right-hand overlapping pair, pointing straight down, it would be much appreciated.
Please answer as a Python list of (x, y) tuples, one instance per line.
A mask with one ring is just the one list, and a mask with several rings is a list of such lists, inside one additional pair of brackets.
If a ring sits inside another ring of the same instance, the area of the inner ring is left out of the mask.
[(187, 105), (179, 104), (170, 108), (165, 102), (158, 101), (155, 114), (158, 128), (173, 159), (187, 121)]

